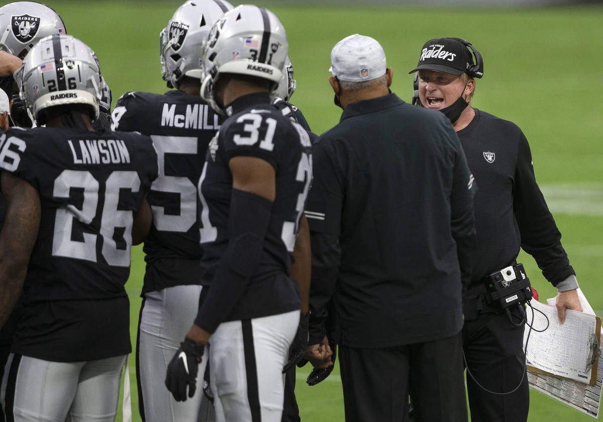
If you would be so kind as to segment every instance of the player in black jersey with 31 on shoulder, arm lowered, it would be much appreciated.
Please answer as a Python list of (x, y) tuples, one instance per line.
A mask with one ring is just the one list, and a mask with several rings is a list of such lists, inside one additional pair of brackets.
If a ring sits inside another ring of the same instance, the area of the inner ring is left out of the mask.
[[(217, 420), (280, 422), (282, 371), (300, 320), (290, 273), (312, 156), (308, 133), (271, 104), (287, 48), (278, 18), (255, 5), (226, 13), (204, 44), (201, 95), (229, 117), (199, 180), (208, 288), (166, 386), (176, 400), (194, 396), (209, 342)], [(309, 242), (307, 231), (300, 236)]]

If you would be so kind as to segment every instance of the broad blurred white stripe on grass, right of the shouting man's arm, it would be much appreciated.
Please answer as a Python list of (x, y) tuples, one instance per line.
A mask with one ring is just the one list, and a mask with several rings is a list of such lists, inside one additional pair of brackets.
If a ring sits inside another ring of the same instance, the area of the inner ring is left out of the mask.
[(553, 216), (603, 216), (603, 182), (544, 184), (540, 190)]

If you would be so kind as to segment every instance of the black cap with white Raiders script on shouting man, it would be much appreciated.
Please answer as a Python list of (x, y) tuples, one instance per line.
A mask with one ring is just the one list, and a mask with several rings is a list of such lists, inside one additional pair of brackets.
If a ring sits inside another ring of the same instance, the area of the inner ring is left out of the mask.
[(408, 73), (426, 70), (461, 75), (468, 73), (471, 66), (473, 57), (463, 42), (454, 38), (436, 38), (423, 45), (417, 67)]

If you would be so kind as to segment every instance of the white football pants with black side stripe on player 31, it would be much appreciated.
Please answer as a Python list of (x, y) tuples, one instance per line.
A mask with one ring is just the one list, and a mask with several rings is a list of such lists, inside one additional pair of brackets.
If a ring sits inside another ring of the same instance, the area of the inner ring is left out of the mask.
[(217, 422), (280, 422), (300, 311), (221, 323), (209, 340)]

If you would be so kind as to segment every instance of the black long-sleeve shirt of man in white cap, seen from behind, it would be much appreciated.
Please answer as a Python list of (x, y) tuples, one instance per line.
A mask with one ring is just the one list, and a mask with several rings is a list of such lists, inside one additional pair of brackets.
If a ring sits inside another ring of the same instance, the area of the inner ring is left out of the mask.
[(334, 291), (339, 341), (351, 347), (458, 333), (475, 184), (450, 122), (394, 94), (354, 102), (313, 154), (306, 217), (314, 315), (326, 306), (316, 292), (325, 299)]

